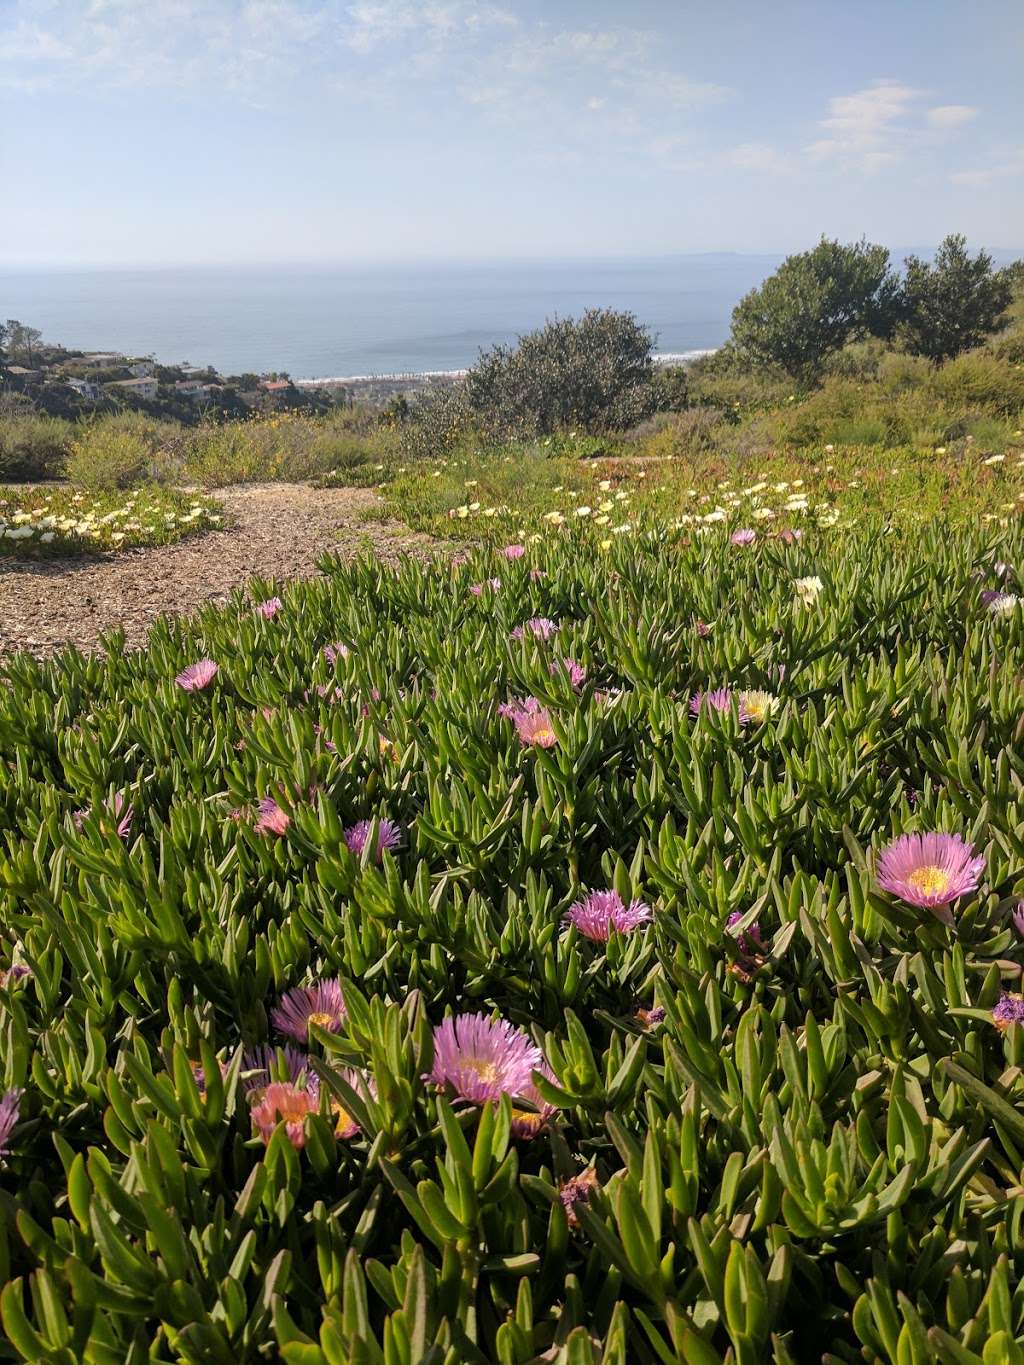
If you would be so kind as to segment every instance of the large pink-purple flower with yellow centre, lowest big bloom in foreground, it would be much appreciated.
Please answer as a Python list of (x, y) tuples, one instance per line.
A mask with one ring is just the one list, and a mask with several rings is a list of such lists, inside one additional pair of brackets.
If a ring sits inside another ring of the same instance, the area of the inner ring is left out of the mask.
[(545, 1069), (541, 1048), (508, 1020), (457, 1014), (434, 1029), (434, 1066), (427, 1080), (449, 1085), (471, 1104), (526, 1095), (532, 1073)]

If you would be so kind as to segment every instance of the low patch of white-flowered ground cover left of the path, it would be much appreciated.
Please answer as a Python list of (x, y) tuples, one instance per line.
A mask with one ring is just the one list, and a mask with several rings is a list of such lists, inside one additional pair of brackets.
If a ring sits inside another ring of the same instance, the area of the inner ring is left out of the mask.
[(0, 487), (0, 554), (19, 558), (171, 545), (220, 521), (210, 498), (156, 486), (117, 493)]

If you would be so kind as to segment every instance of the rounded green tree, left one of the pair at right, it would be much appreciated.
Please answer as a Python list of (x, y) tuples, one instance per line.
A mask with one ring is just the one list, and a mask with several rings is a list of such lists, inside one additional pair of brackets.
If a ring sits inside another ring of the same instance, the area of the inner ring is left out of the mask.
[(856, 337), (886, 336), (896, 322), (898, 281), (885, 247), (826, 238), (786, 257), (733, 308), (732, 341), (755, 364), (812, 379)]

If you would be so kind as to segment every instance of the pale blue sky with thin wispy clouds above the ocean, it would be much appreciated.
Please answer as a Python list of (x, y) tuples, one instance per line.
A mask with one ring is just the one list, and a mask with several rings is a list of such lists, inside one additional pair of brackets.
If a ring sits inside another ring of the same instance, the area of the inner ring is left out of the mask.
[(0, 0), (0, 262), (1024, 246), (1019, 0)]

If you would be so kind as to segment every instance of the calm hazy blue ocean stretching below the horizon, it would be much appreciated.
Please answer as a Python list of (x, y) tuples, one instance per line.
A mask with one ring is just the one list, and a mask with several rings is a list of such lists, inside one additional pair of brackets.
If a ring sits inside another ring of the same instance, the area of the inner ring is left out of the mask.
[(457, 370), (554, 315), (628, 308), (662, 354), (729, 333), (780, 257), (403, 268), (0, 270), (0, 318), (45, 340), (292, 378)]

